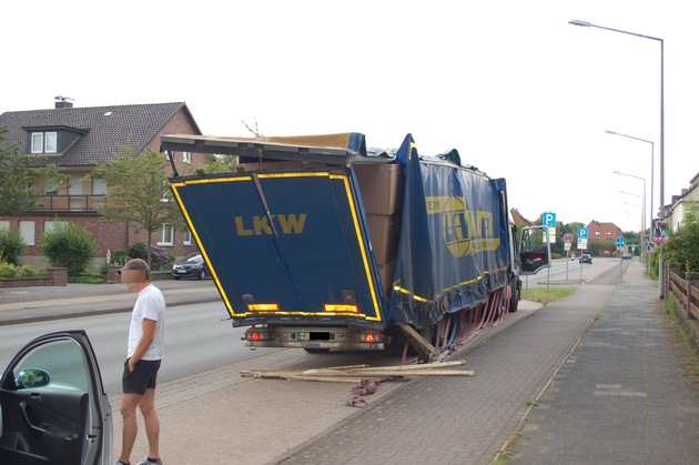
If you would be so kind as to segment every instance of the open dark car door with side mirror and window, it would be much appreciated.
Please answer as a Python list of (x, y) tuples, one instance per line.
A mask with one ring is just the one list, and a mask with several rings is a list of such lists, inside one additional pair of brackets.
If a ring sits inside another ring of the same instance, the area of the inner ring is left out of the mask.
[(0, 464), (111, 464), (111, 408), (84, 331), (27, 344), (0, 381)]

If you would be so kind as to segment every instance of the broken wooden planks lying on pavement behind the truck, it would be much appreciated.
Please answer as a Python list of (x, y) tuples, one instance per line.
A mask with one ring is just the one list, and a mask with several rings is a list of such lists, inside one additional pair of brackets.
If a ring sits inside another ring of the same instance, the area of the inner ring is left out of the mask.
[(288, 381), (322, 381), (328, 383), (357, 383), (365, 378), (392, 378), (412, 376), (473, 376), (473, 371), (447, 370), (463, 365), (464, 361), (424, 363), (403, 366), (348, 365), (304, 371), (261, 370), (240, 372), (242, 377), (276, 378)]

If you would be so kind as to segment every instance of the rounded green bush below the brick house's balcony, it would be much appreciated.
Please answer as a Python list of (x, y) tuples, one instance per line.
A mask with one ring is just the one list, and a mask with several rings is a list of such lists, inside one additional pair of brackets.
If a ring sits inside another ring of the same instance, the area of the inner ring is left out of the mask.
[(69, 276), (84, 273), (98, 252), (92, 233), (68, 221), (44, 233), (40, 243), (51, 266), (67, 267)]

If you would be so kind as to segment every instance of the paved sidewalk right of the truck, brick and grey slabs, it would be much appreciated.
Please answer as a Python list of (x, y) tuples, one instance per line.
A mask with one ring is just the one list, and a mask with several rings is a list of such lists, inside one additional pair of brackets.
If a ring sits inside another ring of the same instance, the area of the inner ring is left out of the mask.
[(419, 380), (273, 462), (699, 463), (696, 360), (639, 262), (459, 357), (475, 376)]

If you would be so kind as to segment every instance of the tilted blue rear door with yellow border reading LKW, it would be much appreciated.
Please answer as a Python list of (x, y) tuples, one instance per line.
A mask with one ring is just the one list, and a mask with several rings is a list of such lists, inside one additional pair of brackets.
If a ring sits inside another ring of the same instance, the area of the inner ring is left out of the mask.
[(171, 186), (234, 325), (384, 324), (350, 169), (174, 178)]

